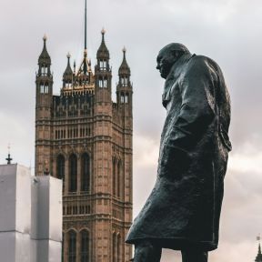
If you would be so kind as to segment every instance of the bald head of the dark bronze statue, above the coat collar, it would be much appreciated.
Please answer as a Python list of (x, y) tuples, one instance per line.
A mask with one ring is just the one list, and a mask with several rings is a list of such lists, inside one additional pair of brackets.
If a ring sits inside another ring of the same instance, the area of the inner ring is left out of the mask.
[(160, 75), (166, 79), (172, 65), (176, 63), (181, 55), (190, 54), (185, 45), (179, 43), (171, 43), (164, 46), (158, 53), (156, 58), (156, 69), (160, 71)]

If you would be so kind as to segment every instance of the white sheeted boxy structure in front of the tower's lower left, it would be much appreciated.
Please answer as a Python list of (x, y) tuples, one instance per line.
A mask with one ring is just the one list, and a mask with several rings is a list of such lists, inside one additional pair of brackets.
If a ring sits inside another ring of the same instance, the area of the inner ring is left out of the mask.
[(62, 181), (0, 166), (0, 261), (60, 262)]

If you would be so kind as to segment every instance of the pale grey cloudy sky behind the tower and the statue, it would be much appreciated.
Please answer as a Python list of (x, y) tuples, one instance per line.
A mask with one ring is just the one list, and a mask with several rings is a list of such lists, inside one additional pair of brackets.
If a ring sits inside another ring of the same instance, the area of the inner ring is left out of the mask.
[[(230, 153), (220, 246), (211, 262), (254, 261), (262, 231), (262, 3), (260, 0), (88, 0), (88, 56), (106, 28), (116, 83), (126, 45), (134, 83), (134, 216), (156, 180), (165, 119), (156, 55), (170, 42), (207, 55), (221, 66), (232, 99)], [(84, 0), (1, 0), (0, 159), (7, 145), (15, 162), (34, 167), (35, 71), (44, 34), (59, 93), (69, 51), (83, 54)], [(116, 88), (115, 88), (116, 90)], [(115, 99), (115, 90), (113, 99)], [(146, 183), (145, 183), (146, 182)], [(162, 261), (180, 261), (164, 251)]]

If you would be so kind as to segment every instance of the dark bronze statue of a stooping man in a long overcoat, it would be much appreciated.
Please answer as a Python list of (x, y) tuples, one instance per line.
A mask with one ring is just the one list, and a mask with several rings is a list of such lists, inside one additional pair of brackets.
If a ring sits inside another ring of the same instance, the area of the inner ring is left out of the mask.
[(135, 245), (135, 262), (160, 261), (162, 248), (181, 250), (183, 262), (206, 262), (218, 243), (230, 98), (217, 63), (185, 45), (166, 45), (156, 62), (167, 112), (157, 179), (126, 243)]

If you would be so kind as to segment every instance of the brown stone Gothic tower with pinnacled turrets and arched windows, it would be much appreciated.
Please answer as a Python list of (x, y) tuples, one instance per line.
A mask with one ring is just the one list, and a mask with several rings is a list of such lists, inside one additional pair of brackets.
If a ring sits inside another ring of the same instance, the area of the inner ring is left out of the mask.
[(105, 30), (95, 72), (84, 57), (67, 65), (53, 95), (51, 58), (44, 48), (36, 73), (35, 176), (48, 170), (63, 179), (63, 261), (127, 262), (125, 237), (132, 222), (132, 94), (126, 49), (116, 103)]

